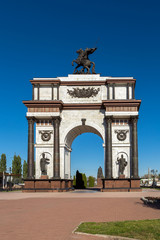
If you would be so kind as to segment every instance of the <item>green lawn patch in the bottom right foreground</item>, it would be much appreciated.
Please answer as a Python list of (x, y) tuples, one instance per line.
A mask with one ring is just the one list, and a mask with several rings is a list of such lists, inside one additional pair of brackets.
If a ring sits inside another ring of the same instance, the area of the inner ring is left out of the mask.
[(86, 222), (76, 232), (130, 237), (140, 240), (160, 240), (160, 219), (124, 222)]

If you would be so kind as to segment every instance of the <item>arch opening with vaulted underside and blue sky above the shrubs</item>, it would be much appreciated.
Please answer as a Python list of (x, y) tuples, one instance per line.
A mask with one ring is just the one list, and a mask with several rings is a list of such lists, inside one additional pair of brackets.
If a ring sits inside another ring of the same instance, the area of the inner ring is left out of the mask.
[(76, 170), (87, 177), (97, 177), (100, 166), (104, 173), (103, 143), (101, 133), (94, 127), (79, 125), (71, 129), (65, 138), (65, 178), (73, 177)]

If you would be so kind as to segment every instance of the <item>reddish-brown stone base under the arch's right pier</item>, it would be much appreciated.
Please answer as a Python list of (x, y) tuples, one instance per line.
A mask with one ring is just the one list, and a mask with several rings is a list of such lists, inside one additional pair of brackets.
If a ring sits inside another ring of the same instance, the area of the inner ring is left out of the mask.
[(102, 179), (102, 192), (141, 192), (140, 178)]

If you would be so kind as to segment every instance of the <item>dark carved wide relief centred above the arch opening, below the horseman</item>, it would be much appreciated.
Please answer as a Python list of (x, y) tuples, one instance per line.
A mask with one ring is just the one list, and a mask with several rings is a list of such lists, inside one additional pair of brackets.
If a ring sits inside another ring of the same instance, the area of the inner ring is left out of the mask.
[(73, 90), (67, 89), (67, 93), (73, 98), (90, 98), (98, 94), (100, 88), (73, 88)]

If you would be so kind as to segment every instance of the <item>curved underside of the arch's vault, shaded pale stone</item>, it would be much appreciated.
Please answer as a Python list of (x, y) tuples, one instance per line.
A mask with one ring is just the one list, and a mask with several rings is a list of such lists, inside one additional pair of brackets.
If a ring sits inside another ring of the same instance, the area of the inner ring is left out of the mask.
[(67, 133), (67, 135), (65, 137), (65, 141), (64, 141), (65, 144), (67, 145), (67, 147), (71, 148), (71, 145), (72, 145), (72, 142), (74, 141), (74, 139), (78, 135), (81, 135), (82, 133), (94, 133), (94, 134), (97, 134), (99, 137), (101, 137), (103, 140), (101, 133), (96, 128), (88, 126), (88, 125), (79, 125), (79, 126), (72, 128)]

